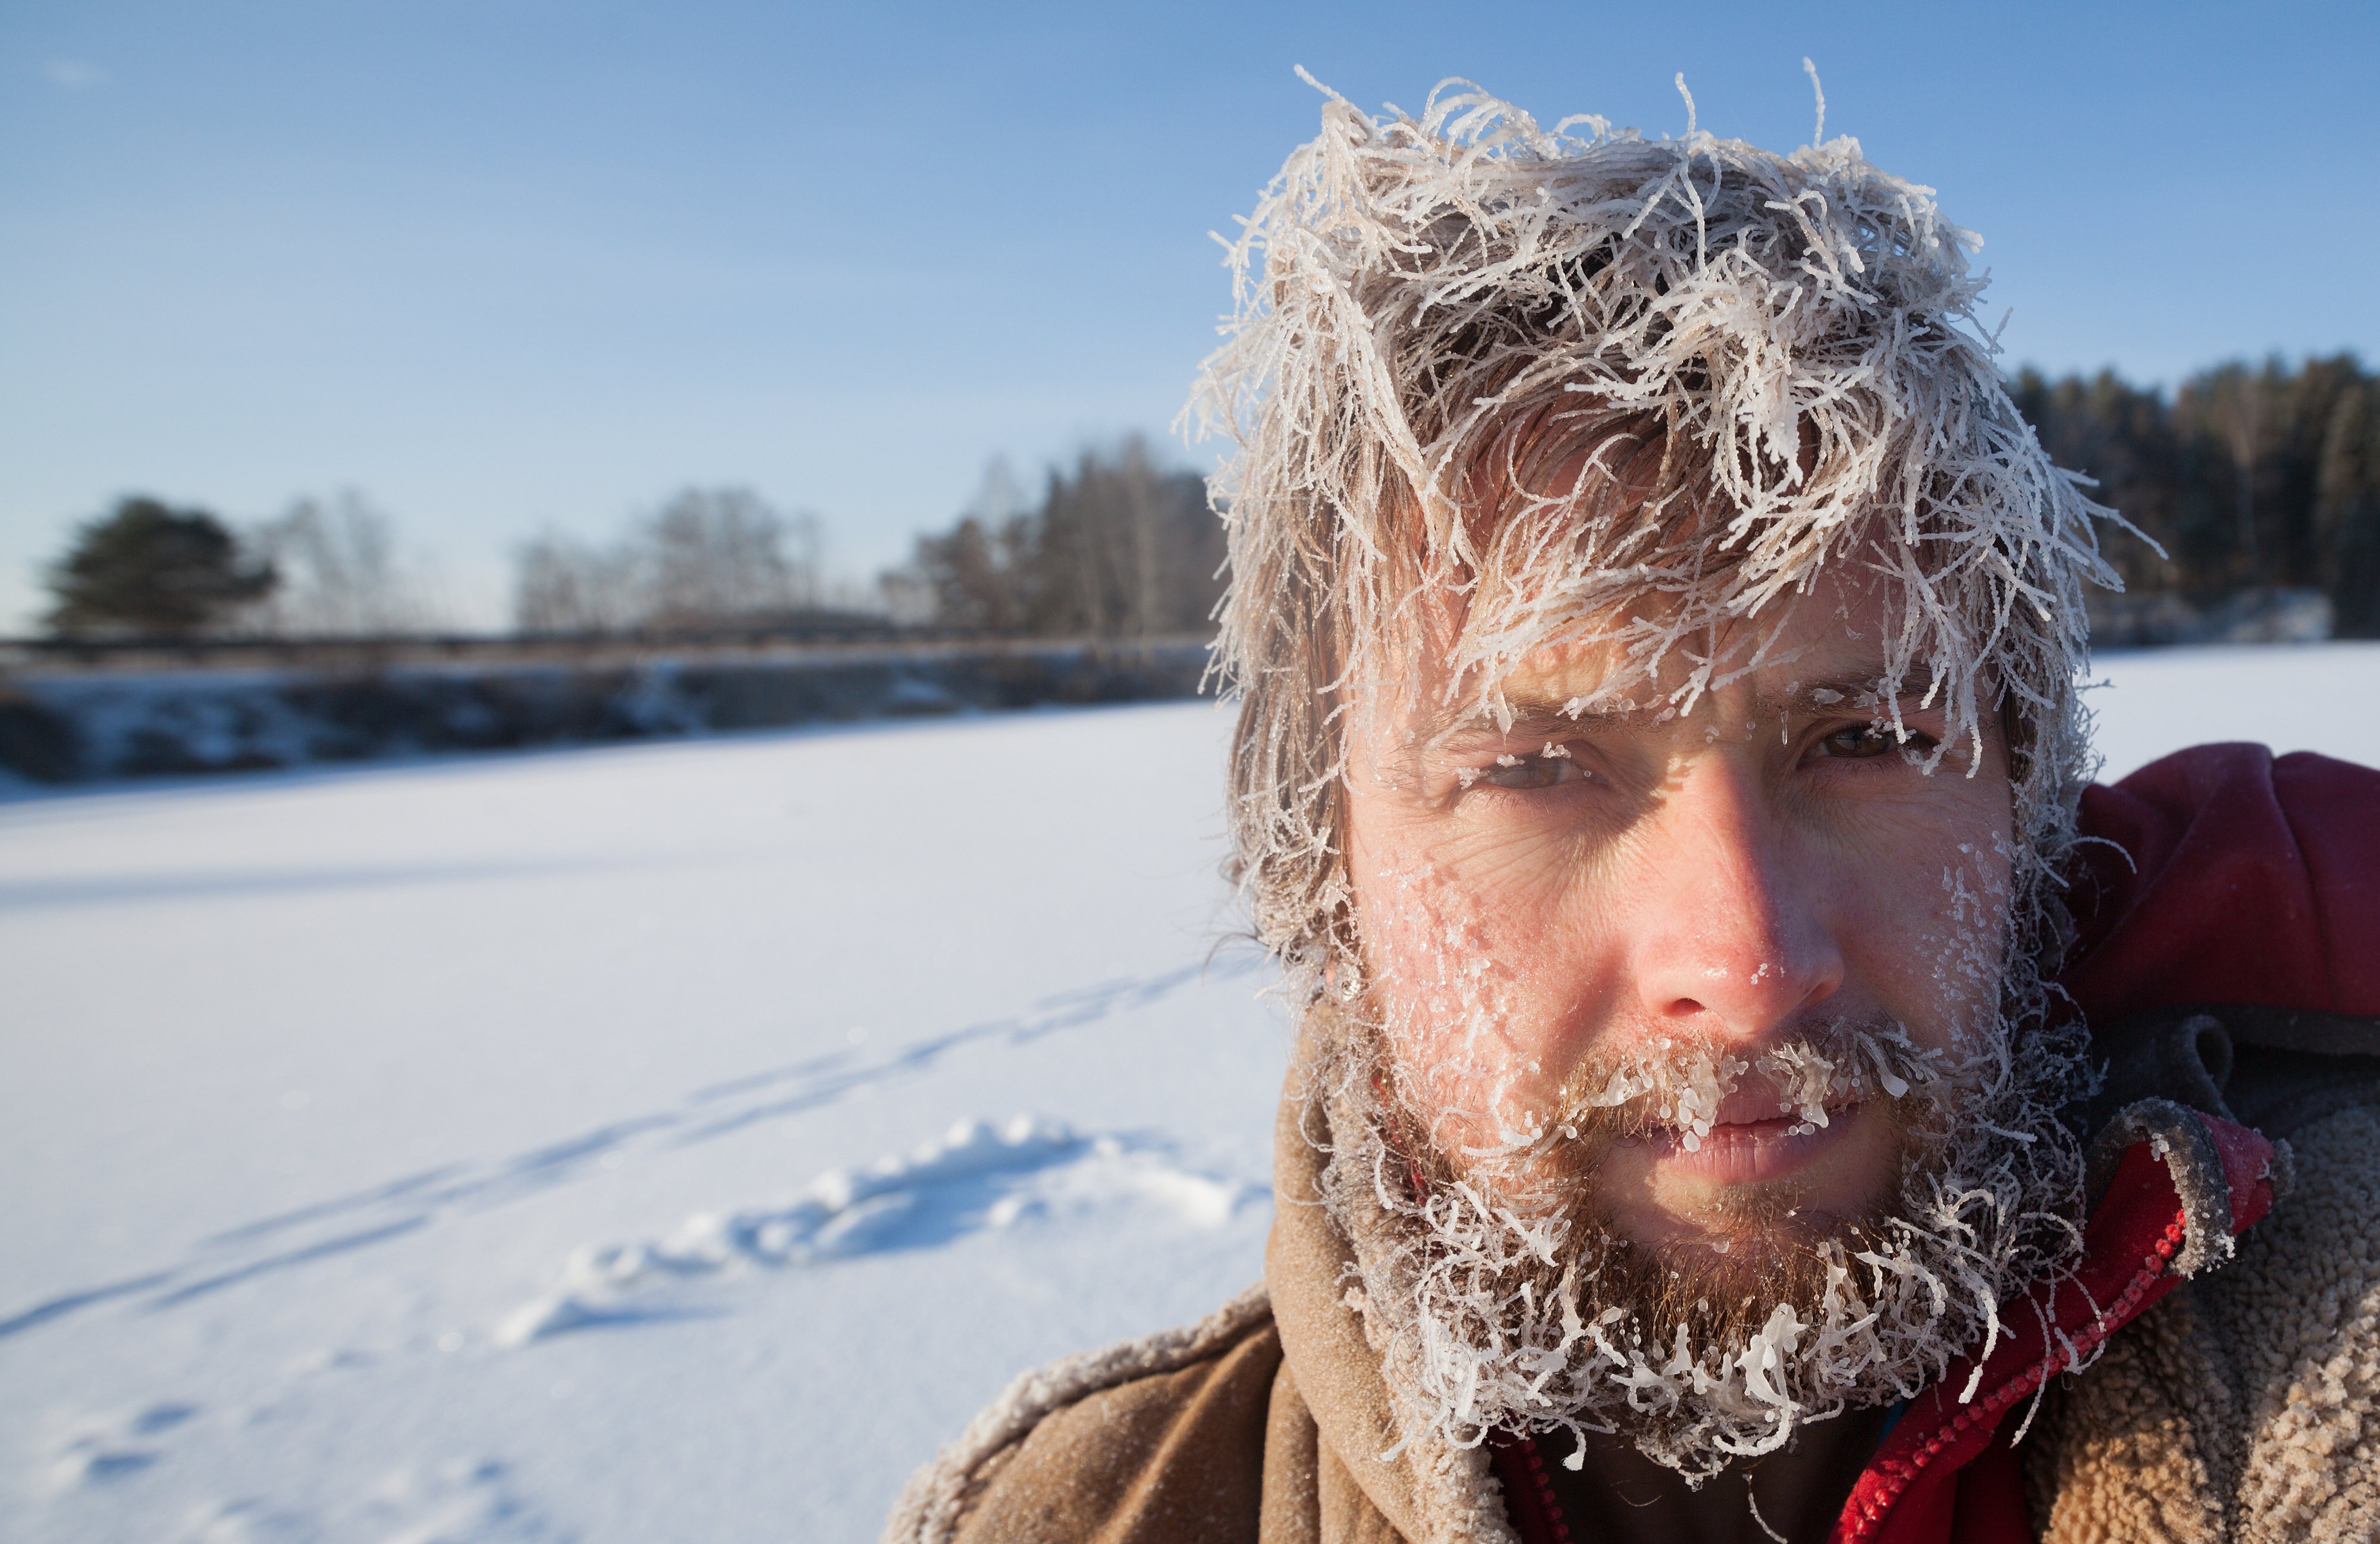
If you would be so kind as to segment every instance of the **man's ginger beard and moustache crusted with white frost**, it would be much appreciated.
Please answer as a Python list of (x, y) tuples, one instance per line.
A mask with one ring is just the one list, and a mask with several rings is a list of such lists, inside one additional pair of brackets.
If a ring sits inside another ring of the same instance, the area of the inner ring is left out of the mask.
[[(1321, 1199), (1354, 1244), (1349, 1304), (1407, 1442), (1568, 1432), (1583, 1451), (1585, 1432), (1623, 1432), (1699, 1485), (1806, 1420), (1914, 1396), (2080, 1247), (2082, 1163), (2056, 1106), (2082, 1047), (2040, 1013), (1994, 1013), (1949, 1054), (1890, 1021), (1811, 1025), (1752, 1059), (1676, 1042), (1583, 1068), (1547, 1130), (1461, 1163), (1395, 1092), (1380, 1028), (1323, 1016)], [(1752, 1194), (1728, 1220), (1756, 1228), (1726, 1254), (1616, 1237), (1583, 1182), (1599, 1154), (1654, 1130), (1687, 1142), (1747, 1080), (1804, 1121), (1844, 1099), (1890, 1111), (1887, 1204), (1797, 1218)]]

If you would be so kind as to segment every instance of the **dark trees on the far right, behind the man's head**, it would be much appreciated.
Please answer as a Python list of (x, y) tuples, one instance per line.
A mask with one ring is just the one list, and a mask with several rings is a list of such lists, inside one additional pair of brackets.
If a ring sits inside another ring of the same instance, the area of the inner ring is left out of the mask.
[(2320, 590), (2340, 635), (2380, 638), (2380, 376), (2354, 354), (2225, 364), (2171, 400), (2028, 369), (2013, 395), (2049, 457), (2166, 550), (2106, 540), (2128, 590)]

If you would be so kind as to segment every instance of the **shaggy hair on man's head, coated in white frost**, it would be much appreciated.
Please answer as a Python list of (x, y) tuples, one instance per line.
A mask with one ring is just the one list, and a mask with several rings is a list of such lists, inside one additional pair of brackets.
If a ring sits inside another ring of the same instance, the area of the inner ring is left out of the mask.
[(1852, 138), (1547, 131), (1461, 81), (1418, 119), (1326, 102), (1230, 243), (1190, 407), (1235, 440), (1233, 868), (1292, 980), (1359, 985), (1347, 714), (1416, 690), (1423, 649), (1497, 711), (1516, 659), (1602, 640), (1626, 669), (1573, 711), (1654, 680), (1685, 711), (1830, 566), (1887, 592), (1887, 678), (1944, 745), (2009, 733), (2021, 947), (2056, 942), (2113, 511), (2002, 390), (1975, 247)]

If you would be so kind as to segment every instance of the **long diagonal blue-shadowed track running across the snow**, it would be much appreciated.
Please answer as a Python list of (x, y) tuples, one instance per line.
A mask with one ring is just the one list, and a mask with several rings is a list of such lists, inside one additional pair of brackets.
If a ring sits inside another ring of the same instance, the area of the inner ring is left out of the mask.
[[(148, 1311), (178, 1308), (240, 1282), (295, 1270), (416, 1232), (447, 1213), (486, 1211), (557, 1185), (569, 1185), (609, 1154), (640, 1142), (666, 1142), (669, 1147), (712, 1142), (766, 1121), (783, 1121), (833, 1104), (864, 1087), (916, 1078), (952, 1052), (971, 1044), (1031, 1044), (1061, 1030), (1076, 1030), (1164, 1002), (1200, 980), (1252, 975), (1264, 964), (1266, 959), (1257, 952), (1230, 952), (1161, 975), (1109, 980), (1045, 997), (1026, 1013), (971, 1023), (864, 1061), (857, 1052), (804, 1056), (776, 1068), (704, 1085), (674, 1106), (624, 1121), (607, 1121), (605, 1125), (543, 1142), (505, 1159), (440, 1163), (383, 1185), (369, 1185), (238, 1223), (207, 1235), (174, 1266), (60, 1292), (10, 1313), (0, 1318), (0, 1339), (57, 1323), (83, 1308), (143, 1294), (150, 1294), (143, 1304)], [(935, 1206), (940, 1201), (928, 1204), (919, 1213), (919, 1228), (933, 1228), (931, 1216), (940, 1216)], [(964, 1218), (971, 1213), (954, 1199), (950, 1216)], [(952, 1223), (952, 1228), (957, 1225)], [(328, 1237), (305, 1239), (302, 1235), (314, 1228), (331, 1232)], [(854, 1220), (852, 1228), (859, 1228), (859, 1223)], [(302, 1242), (293, 1242), (290, 1235), (298, 1235)], [(921, 1232), (919, 1237), (926, 1235)]]

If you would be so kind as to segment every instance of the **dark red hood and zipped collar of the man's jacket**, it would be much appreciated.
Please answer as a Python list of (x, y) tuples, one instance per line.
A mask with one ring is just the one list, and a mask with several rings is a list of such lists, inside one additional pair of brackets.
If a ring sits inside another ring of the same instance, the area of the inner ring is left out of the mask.
[[(2261, 745), (2202, 745), (2082, 795), (2071, 902), (2080, 923), (2059, 978), (2085, 1018), (2111, 1025), (2185, 1004), (2259, 1004), (2380, 1016), (2380, 773)], [(2204, 1121), (2230, 1182), (2230, 1228), (2273, 1204), (2271, 1142)], [(2116, 1170), (2085, 1228), (2078, 1275), (2011, 1308), (1975, 1375), (1954, 1363), (1911, 1401), (1852, 1487), (1835, 1542), (2030, 1544), (2011, 1416), (2180, 1280), (2185, 1211), (2147, 1142)], [(2047, 1335), (2042, 1320), (2056, 1325)], [(1968, 1399), (1959, 1399), (1973, 1385)], [(2021, 1416), (2018, 1416), (2021, 1420)], [(1514, 1525), (1564, 1537), (1533, 1449), (1499, 1449)]]

